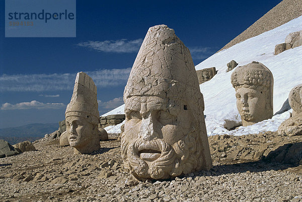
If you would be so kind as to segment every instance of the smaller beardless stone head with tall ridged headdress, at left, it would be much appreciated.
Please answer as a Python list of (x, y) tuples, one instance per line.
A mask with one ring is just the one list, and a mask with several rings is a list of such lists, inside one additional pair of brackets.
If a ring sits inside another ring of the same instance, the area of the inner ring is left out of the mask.
[(90, 154), (100, 149), (97, 87), (84, 72), (75, 78), (65, 120), (68, 142), (75, 153)]

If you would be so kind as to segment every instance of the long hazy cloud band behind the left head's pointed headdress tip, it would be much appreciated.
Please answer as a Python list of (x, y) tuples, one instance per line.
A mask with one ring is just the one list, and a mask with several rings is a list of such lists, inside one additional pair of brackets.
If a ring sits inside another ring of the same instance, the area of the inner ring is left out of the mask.
[[(125, 86), (131, 68), (86, 72), (99, 87)], [(0, 76), (0, 92), (72, 90), (77, 74), (33, 74)], [(57, 96), (57, 95), (55, 95)], [(45, 96), (46, 97), (46, 96)]]

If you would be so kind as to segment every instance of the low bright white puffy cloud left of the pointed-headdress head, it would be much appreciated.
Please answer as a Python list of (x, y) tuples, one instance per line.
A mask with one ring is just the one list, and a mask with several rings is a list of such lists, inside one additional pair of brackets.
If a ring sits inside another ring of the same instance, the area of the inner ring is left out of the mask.
[(65, 108), (63, 103), (42, 103), (36, 100), (31, 102), (20, 102), (17, 104), (4, 103), (1, 110), (13, 110), (13, 109), (60, 109)]

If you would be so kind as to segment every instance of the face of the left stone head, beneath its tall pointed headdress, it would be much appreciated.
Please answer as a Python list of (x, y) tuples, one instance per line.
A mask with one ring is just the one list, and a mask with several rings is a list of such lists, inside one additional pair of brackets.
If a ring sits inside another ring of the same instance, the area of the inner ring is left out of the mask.
[(91, 141), (94, 141), (94, 126), (84, 117), (68, 116), (66, 117), (66, 131), (69, 145), (76, 149), (89, 147)]

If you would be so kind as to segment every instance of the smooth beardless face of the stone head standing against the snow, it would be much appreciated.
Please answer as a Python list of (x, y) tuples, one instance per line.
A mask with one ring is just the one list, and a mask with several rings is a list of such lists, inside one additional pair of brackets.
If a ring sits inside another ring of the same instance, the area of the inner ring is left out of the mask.
[(265, 93), (260, 90), (241, 87), (236, 91), (237, 109), (245, 122), (244, 125), (252, 125), (263, 120), (263, 112), (266, 111)]

